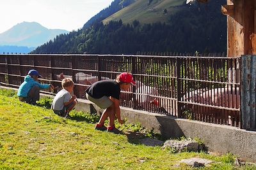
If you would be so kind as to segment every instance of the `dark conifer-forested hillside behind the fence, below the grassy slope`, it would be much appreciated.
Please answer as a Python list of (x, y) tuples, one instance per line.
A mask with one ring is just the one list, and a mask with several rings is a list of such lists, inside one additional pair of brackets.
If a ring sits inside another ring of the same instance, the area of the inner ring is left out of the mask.
[(227, 22), (221, 4), (225, 0), (180, 4), (168, 22), (94, 22), (88, 29), (57, 36), (33, 53), (225, 52)]

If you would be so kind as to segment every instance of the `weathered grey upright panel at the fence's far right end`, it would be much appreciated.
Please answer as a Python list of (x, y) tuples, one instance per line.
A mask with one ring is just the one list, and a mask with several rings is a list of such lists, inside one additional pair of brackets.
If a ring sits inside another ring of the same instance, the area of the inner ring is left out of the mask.
[(256, 55), (241, 57), (241, 124), (243, 129), (256, 129)]

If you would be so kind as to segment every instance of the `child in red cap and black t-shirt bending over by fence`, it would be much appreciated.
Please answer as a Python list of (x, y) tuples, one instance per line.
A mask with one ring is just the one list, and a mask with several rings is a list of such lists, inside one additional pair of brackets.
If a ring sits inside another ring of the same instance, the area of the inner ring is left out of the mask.
[[(115, 129), (115, 117), (120, 124), (124, 124), (121, 119), (119, 98), (121, 89), (127, 91), (131, 85), (136, 85), (132, 74), (122, 73), (116, 76), (116, 80), (102, 80), (93, 83), (91, 87), (86, 90), (86, 97), (88, 100), (97, 104), (104, 112), (102, 113), (99, 123), (95, 129), (100, 131), (117, 132)], [(105, 120), (109, 117), (109, 127), (104, 126)]]

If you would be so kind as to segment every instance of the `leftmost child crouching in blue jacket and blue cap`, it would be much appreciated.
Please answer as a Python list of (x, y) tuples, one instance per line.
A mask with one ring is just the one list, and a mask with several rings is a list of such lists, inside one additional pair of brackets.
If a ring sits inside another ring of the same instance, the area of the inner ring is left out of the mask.
[(38, 78), (42, 78), (38, 71), (35, 69), (29, 70), (18, 90), (17, 95), (20, 101), (35, 105), (36, 101), (39, 101), (40, 89), (54, 89), (51, 84), (40, 84)]

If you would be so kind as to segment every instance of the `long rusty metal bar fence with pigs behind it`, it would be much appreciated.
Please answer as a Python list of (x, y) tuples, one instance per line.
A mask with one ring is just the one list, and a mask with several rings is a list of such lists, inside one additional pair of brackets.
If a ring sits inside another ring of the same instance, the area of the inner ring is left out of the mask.
[(75, 83), (74, 94), (99, 80), (134, 75), (136, 87), (120, 96), (121, 106), (214, 124), (241, 126), (240, 58), (153, 55), (0, 55), (0, 82), (19, 87), (29, 69), (42, 83), (61, 89), (61, 78)]

